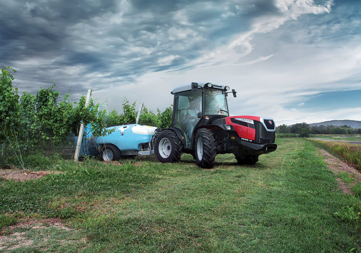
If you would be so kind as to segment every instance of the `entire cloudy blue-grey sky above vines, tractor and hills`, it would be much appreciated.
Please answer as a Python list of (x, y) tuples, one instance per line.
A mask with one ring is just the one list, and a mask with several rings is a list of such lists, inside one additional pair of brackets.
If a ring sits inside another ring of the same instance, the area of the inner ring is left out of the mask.
[(53, 80), (122, 111), (228, 85), (230, 115), (277, 125), (361, 120), (361, 1), (0, 0), (0, 63), (19, 94)]

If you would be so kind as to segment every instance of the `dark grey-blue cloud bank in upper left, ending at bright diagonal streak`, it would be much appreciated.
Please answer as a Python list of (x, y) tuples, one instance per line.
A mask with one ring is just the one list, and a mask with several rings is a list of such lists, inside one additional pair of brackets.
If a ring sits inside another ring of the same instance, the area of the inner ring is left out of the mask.
[(0, 0), (0, 60), (19, 90), (56, 80), (66, 93), (135, 82), (144, 73), (188, 69), (190, 61), (279, 15), (275, 1)]

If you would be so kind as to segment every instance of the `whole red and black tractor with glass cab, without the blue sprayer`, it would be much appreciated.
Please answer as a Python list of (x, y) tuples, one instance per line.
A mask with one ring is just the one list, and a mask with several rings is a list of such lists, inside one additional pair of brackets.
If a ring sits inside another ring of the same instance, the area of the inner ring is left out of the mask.
[(216, 154), (233, 153), (238, 164), (255, 164), (277, 149), (273, 119), (229, 116), (229, 87), (192, 82), (176, 87), (171, 128), (156, 129), (154, 150), (162, 163), (192, 154), (202, 168), (212, 168)]

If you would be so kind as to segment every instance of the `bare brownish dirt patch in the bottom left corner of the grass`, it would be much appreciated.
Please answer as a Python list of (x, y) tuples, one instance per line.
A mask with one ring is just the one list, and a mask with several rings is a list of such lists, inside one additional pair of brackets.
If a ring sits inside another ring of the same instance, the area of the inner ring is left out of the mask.
[[(5, 236), (0, 236), (0, 250), (14, 250), (20, 247), (28, 247), (38, 246), (34, 245), (34, 240), (31, 239), (30, 235), (37, 234), (37, 241), (39, 241), (39, 235), (43, 235), (43, 240), (46, 244), (48, 239), (50, 238), (47, 233), (42, 233), (40, 230), (47, 230), (51, 228), (60, 228), (60, 231), (64, 231), (63, 233), (69, 233), (69, 236), (74, 233), (73, 228), (66, 227), (60, 220), (58, 219), (41, 219), (41, 220), (27, 220), (25, 222), (17, 223), (16, 225), (9, 226), (6, 228)], [(26, 230), (26, 231), (24, 231)], [(29, 231), (31, 233), (29, 234)], [(2, 233), (5, 232), (5, 228), (3, 229)], [(60, 245), (66, 244), (85, 244), (86, 239), (82, 238), (79, 240), (56, 240)], [(54, 243), (54, 242), (52, 242)]]

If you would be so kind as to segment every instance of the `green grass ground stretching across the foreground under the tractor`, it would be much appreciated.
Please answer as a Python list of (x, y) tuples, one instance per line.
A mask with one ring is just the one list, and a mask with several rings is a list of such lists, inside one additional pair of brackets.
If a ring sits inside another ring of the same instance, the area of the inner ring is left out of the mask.
[(74, 230), (16, 228), (33, 241), (16, 250), (360, 252), (358, 217), (334, 215), (351, 207), (357, 214), (359, 200), (340, 192), (310, 141), (276, 142), (278, 149), (255, 166), (218, 155), (211, 170), (190, 155), (176, 164), (149, 157), (121, 165), (49, 160), (47, 170), (64, 173), (0, 179), (3, 235), (17, 221), (56, 218)]

